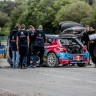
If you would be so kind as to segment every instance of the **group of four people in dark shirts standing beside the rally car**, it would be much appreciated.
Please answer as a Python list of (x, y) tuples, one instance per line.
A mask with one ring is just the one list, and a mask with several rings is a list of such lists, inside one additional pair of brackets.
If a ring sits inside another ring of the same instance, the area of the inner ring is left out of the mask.
[(33, 67), (36, 67), (37, 55), (39, 52), (40, 65), (43, 66), (45, 33), (43, 26), (39, 25), (37, 29), (29, 25), (17, 24), (10, 34), (10, 47), (12, 51), (12, 67), (27, 68), (30, 66), (30, 56), (33, 53)]

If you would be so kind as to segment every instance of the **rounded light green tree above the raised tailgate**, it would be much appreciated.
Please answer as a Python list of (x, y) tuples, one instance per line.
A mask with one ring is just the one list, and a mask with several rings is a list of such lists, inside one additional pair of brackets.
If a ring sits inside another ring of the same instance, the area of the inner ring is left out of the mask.
[(70, 20), (80, 23), (84, 18), (90, 17), (91, 14), (91, 6), (83, 1), (78, 1), (70, 5), (62, 6), (59, 12), (56, 14), (55, 22), (59, 23), (62, 21)]

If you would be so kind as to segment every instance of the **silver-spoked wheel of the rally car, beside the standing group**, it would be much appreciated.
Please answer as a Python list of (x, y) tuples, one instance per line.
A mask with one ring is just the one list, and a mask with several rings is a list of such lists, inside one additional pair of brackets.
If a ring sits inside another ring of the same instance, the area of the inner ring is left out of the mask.
[(51, 52), (47, 55), (47, 66), (57, 67), (59, 65), (58, 58), (55, 53)]

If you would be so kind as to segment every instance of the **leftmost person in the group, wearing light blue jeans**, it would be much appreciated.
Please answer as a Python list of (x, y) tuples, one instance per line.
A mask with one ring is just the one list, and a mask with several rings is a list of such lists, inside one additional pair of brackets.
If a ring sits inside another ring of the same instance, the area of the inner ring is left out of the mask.
[(13, 68), (18, 68), (19, 65), (19, 52), (16, 47), (16, 34), (19, 30), (20, 25), (16, 25), (10, 34), (10, 46), (12, 50), (12, 63)]

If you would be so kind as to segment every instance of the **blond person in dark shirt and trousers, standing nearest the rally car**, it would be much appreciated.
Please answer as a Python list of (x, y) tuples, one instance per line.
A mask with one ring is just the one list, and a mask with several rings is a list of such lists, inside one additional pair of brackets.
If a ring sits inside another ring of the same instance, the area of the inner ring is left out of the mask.
[(34, 34), (33, 67), (36, 67), (36, 56), (38, 55), (38, 53), (40, 57), (40, 67), (43, 66), (44, 43), (45, 33), (43, 32), (43, 26), (39, 25), (38, 29)]

